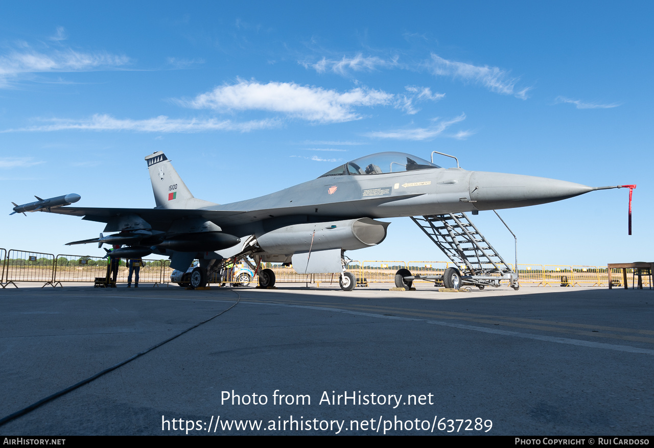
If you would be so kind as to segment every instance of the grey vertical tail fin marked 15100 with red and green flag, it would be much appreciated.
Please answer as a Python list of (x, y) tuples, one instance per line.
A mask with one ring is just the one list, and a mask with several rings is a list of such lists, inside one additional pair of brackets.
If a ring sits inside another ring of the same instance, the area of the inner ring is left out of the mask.
[(194, 198), (163, 152), (154, 152), (146, 156), (145, 161), (148, 164), (156, 208), (198, 209), (216, 205), (213, 202)]

